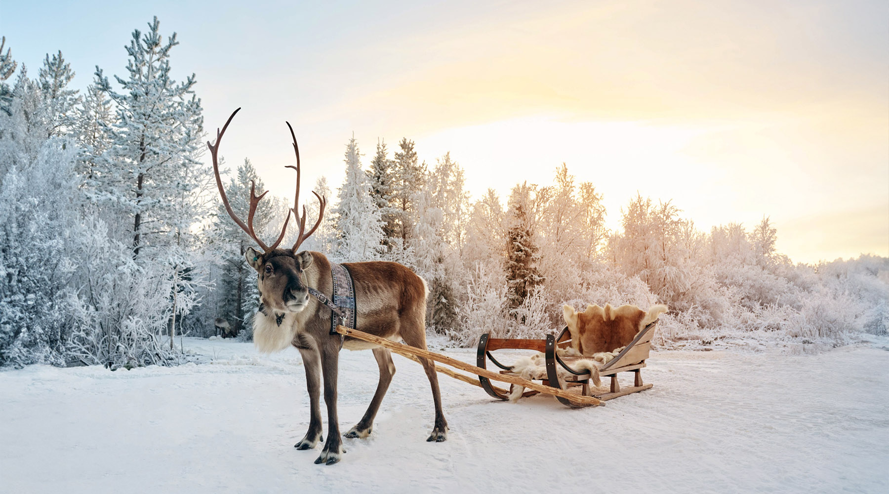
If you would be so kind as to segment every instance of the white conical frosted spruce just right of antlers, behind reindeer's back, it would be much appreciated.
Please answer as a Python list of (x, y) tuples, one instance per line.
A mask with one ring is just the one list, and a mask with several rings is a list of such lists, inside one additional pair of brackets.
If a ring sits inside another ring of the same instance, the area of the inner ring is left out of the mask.
[(343, 161), (346, 181), (340, 187), (333, 214), (340, 234), (336, 258), (343, 262), (380, 259), (384, 250), (380, 208), (371, 195), (371, 182), (361, 168), (355, 138), (348, 139)]

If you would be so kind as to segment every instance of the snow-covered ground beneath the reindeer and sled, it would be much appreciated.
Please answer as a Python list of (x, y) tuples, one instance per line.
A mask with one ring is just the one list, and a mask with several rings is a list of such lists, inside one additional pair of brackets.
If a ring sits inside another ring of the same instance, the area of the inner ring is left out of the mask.
[[(440, 377), (451, 432), (426, 442), (428, 381), (398, 369), (373, 434), (334, 466), (293, 448), (308, 426), (300, 355), (186, 339), (202, 363), (0, 371), (2, 492), (886, 492), (889, 351), (656, 352), (654, 387), (571, 410), (495, 402)], [(467, 362), (471, 350), (447, 355)], [(377, 368), (343, 351), (340, 429)], [(326, 433), (326, 430), (325, 430)]]

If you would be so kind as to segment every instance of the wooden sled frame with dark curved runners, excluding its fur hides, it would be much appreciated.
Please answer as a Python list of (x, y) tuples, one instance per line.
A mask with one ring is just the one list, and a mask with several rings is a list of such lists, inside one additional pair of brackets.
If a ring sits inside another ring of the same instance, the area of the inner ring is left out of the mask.
[[(640, 370), (645, 367), (645, 359), (648, 358), (649, 351), (651, 350), (651, 340), (654, 334), (654, 326), (657, 323), (657, 321), (649, 323), (647, 326), (645, 326), (645, 328), (642, 329), (642, 331), (639, 331), (637, 333), (636, 337), (632, 341), (630, 341), (623, 350), (621, 350), (620, 354), (616, 355), (608, 363), (605, 363), (604, 365), (598, 365), (599, 376), (601, 378), (611, 378), (611, 386), (607, 389), (594, 388), (590, 390), (589, 371), (585, 369), (577, 371), (572, 368), (572, 363), (581, 359), (589, 359), (589, 357), (563, 357), (558, 355), (556, 351), (557, 347), (567, 348), (571, 346), (571, 333), (568, 331), (567, 326), (565, 326), (565, 328), (558, 334), (558, 336), (549, 334), (547, 335), (546, 339), (490, 338), (489, 334), (485, 333), (480, 339), (478, 339), (476, 365), (481, 369), (487, 369), (486, 363), (487, 360), (490, 360), (494, 365), (502, 369), (502, 375), (517, 376), (515, 373), (512, 372), (511, 366), (503, 365), (502, 363), (498, 362), (497, 359), (495, 359), (494, 356), (491, 354), (491, 352), (502, 348), (536, 350), (544, 354), (546, 358), (547, 378), (540, 379), (543, 385), (561, 388), (561, 386), (559, 385), (557, 374), (557, 369), (558, 367), (560, 367), (574, 376), (573, 380), (565, 381), (565, 384), (569, 389), (573, 388), (573, 390), (579, 391), (577, 395), (589, 396), (591, 394), (602, 402), (605, 402), (607, 400), (611, 400), (612, 398), (623, 396), (624, 394), (638, 393), (639, 391), (644, 391), (645, 389), (649, 389), (653, 386), (651, 384), (644, 384), (642, 382), (642, 374), (640, 373)], [(633, 386), (621, 387), (621, 385), (618, 384), (617, 375), (621, 372), (633, 373)], [(508, 398), (508, 393), (505, 393), (505, 390), (492, 386), (491, 379), (486, 378), (483, 375), (479, 375), (478, 381), (481, 384), (482, 388), (485, 389), (487, 394), (492, 395), (494, 398), (498, 398), (500, 400), (506, 400)], [(590, 393), (590, 391), (592, 392)], [(535, 390), (526, 391), (525, 394), (522, 394), (522, 396), (531, 396), (538, 393), (539, 392)], [(560, 395), (556, 395), (556, 399), (559, 402), (562, 402), (563, 404), (572, 408), (589, 406), (588, 403), (573, 401)]]

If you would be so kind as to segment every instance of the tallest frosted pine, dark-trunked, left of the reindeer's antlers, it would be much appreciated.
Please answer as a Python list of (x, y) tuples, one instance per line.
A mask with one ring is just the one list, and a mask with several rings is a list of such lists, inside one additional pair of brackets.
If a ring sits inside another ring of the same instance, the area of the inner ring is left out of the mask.
[[(164, 44), (160, 23), (155, 17), (148, 23), (148, 32), (132, 33), (126, 47), (130, 57), (129, 76), (115, 76), (124, 92), (116, 92), (96, 68), (96, 85), (116, 103), (114, 153), (112, 170), (104, 174), (103, 185), (110, 203), (123, 206), (132, 221), (132, 252), (156, 244), (169, 244), (158, 235), (170, 235), (175, 211), (175, 197), (182, 187), (179, 182), (188, 175), (184, 167), (199, 163), (196, 155), (203, 150), (204, 117), (200, 100), (192, 90), (192, 74), (177, 83), (170, 76), (170, 51), (179, 44), (173, 33)], [(145, 227), (148, 224), (149, 227)]]

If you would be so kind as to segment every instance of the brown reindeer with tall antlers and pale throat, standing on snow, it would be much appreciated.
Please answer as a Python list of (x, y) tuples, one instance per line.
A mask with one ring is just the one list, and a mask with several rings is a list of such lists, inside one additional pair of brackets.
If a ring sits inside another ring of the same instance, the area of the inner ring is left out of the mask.
[[(296, 136), (290, 123), (291, 137), (293, 139), (293, 151), (296, 153), (296, 166), (287, 166), (296, 170), (296, 195), (293, 199), (293, 207), (284, 219), (281, 234), (271, 246), (266, 245), (253, 231), (253, 214), (260, 203), (261, 195), (256, 195), (255, 184), (251, 184), (250, 209), (247, 213), (247, 222), (239, 219), (235, 211), (232, 211), (228, 203), (228, 197), (222, 187), (220, 179), (219, 152), (222, 135), (228, 128), (228, 123), (235, 117), (241, 108), (237, 108), (220, 131), (216, 131), (216, 144), (209, 141), (212, 155), (213, 173), (216, 175), (216, 185), (219, 187), (222, 203), (225, 205), (228, 215), (235, 223), (244, 229), (247, 235), (259, 245), (260, 251), (248, 248), (245, 252), (247, 263), (256, 270), (260, 289), (260, 312), (254, 317), (253, 342), (263, 353), (271, 353), (293, 346), (300, 350), (303, 367), (306, 370), (306, 387), (309, 398), (308, 432), (297, 442), (294, 447), (298, 450), (310, 450), (316, 447), (317, 442), (324, 441), (322, 437), (321, 406), (318, 400), (321, 388), (321, 378), (324, 377), (324, 403), (327, 405), (327, 441), (321, 455), (315, 460), (316, 464), (326, 463), (332, 465), (342, 457), (346, 451), (342, 449), (340, 438), (339, 419), (337, 418), (337, 370), (339, 363), (340, 347), (349, 350), (372, 349), (373, 356), (380, 367), (380, 382), (377, 391), (373, 394), (370, 406), (364, 412), (364, 417), (358, 421), (345, 435), (350, 438), (365, 438), (371, 434), (373, 418), (380, 409), (380, 402), (386, 394), (392, 376), (395, 374), (395, 364), (392, 363), (392, 355), (384, 347), (377, 347), (363, 340), (341, 337), (331, 334), (332, 309), (324, 306), (316, 297), (309, 297), (310, 289), (331, 294), (332, 274), (331, 261), (324, 254), (315, 251), (299, 251), (300, 244), (315, 233), (321, 219), (324, 217), (326, 197), (314, 194), (320, 203), (318, 219), (315, 226), (305, 231), (306, 207), (302, 207), (302, 216), (298, 214), (297, 206), (300, 199), (300, 148), (296, 143)], [(290, 221), (290, 213), (299, 219), (300, 233), (296, 243), (290, 249), (278, 249), (278, 245), (284, 239), (284, 232)], [(357, 308), (357, 328), (381, 338), (404, 343), (412, 347), (426, 348), (426, 297), (428, 287), (420, 276), (413, 273), (407, 267), (396, 262), (353, 262), (344, 265), (352, 276), (355, 287)], [(420, 359), (429, 385), (432, 386), (432, 399), (435, 403), (436, 420), (432, 434), (427, 441), (442, 442), (447, 439), (447, 421), (442, 411), (441, 394), (438, 389), (438, 378), (435, 365), (427, 359)]]

